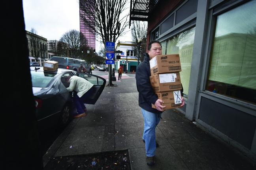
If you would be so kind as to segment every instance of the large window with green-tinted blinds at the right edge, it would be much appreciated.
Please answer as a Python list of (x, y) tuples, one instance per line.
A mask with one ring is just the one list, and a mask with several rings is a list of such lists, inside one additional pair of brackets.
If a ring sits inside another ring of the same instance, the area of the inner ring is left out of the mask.
[(216, 18), (206, 90), (256, 103), (256, 1)]

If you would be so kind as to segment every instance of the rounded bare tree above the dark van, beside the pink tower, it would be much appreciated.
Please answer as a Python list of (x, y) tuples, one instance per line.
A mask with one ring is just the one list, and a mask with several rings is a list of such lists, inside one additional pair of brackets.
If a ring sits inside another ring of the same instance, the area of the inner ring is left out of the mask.
[(62, 35), (60, 41), (67, 44), (68, 57), (78, 58), (80, 54), (80, 33), (70, 30)]

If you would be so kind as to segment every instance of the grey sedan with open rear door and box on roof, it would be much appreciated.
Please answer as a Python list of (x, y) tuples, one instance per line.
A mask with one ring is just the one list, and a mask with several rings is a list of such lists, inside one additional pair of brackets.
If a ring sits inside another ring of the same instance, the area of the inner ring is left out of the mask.
[(45, 71), (43, 67), (30, 67), (32, 90), (36, 104), (36, 118), (40, 130), (60, 124), (66, 126), (70, 115), (76, 111), (73, 105), (73, 92), (66, 87), (67, 76), (77, 75), (90, 81), (94, 94), (84, 102), (95, 104), (102, 93), (106, 80), (96, 75), (77, 73), (73, 70), (58, 68), (55, 72)]

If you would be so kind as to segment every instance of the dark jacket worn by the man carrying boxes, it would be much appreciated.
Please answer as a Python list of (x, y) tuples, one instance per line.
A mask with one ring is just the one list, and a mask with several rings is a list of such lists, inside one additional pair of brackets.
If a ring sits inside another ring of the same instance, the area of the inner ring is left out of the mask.
[(162, 113), (151, 106), (151, 103), (154, 104), (158, 97), (151, 86), (149, 76), (151, 76), (149, 54), (145, 53), (144, 61), (139, 64), (136, 70), (136, 85), (139, 92), (139, 107), (152, 113)]

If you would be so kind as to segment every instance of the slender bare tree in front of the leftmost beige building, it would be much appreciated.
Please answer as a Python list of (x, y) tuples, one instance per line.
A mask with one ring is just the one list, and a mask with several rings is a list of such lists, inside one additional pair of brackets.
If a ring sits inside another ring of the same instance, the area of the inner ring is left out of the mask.
[(34, 35), (31, 35), (31, 39), (30, 39), (30, 41), (31, 41), (30, 42), (31, 55), (38, 62), (38, 57), (40, 57), (41, 46), (39, 45), (38, 37), (36, 37), (36, 35), (37, 35), (36, 29), (31, 28), (30, 32), (34, 34)]

